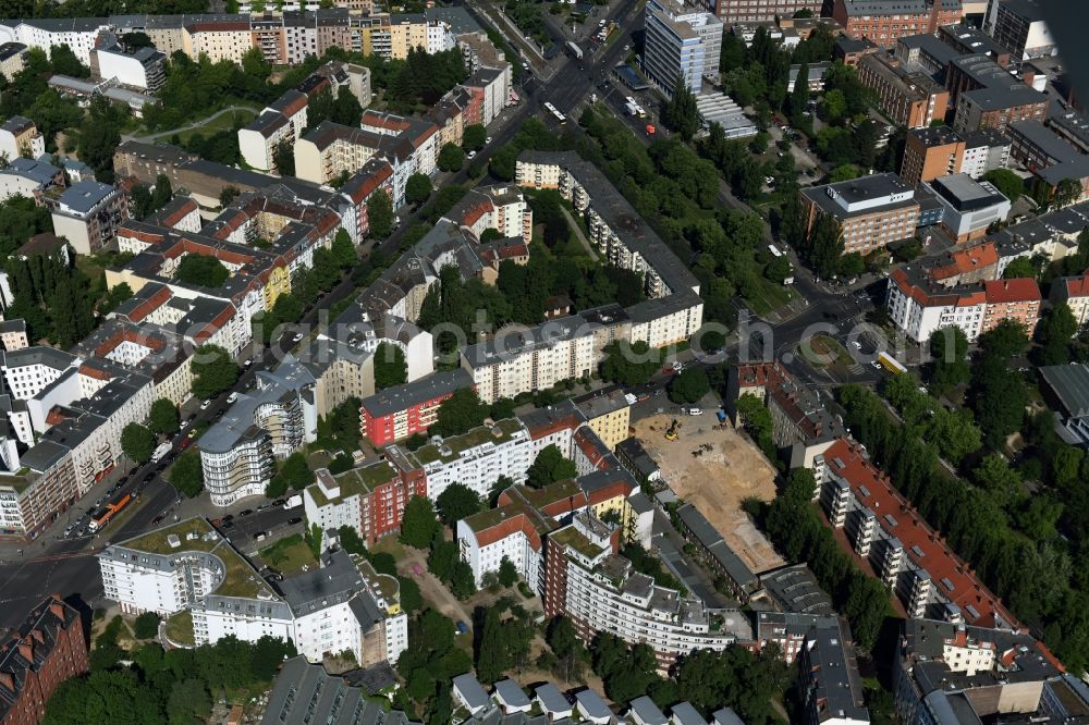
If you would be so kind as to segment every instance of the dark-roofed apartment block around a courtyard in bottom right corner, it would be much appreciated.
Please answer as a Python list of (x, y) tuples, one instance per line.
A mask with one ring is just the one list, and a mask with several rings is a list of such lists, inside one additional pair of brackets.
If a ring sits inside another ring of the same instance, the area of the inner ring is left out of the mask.
[(1027, 634), (908, 618), (893, 663), (896, 716), (906, 725), (1077, 720), (1089, 693), (1063, 671)]

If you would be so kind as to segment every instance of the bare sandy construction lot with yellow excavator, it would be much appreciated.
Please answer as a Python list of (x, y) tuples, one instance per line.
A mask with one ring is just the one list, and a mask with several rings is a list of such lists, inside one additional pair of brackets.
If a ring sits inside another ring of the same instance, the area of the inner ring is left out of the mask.
[[(635, 435), (658, 462), (662, 479), (678, 496), (692, 503), (719, 530), (726, 544), (760, 574), (786, 562), (742, 509), (742, 501), (775, 497), (775, 470), (767, 458), (729, 423), (715, 430), (713, 411), (682, 416), (681, 437), (665, 440), (670, 415), (644, 418)], [(694, 456), (701, 446), (710, 450)]]

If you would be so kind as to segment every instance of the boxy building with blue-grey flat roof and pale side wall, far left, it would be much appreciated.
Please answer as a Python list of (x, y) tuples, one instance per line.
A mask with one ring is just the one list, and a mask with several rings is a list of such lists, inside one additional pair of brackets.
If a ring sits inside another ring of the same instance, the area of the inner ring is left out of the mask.
[(68, 187), (51, 209), (53, 232), (76, 254), (93, 255), (113, 241), (129, 218), (129, 196), (121, 189), (84, 180)]

